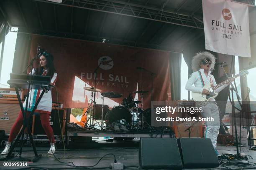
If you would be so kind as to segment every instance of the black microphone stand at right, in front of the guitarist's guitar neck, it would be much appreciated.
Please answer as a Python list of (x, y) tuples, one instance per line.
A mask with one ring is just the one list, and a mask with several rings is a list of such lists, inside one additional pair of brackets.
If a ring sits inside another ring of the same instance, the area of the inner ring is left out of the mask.
[[(234, 85), (230, 81), (230, 79), (228, 77), (228, 74), (226, 73), (225, 69), (223, 68), (223, 64), (221, 64), (220, 67), (223, 69), (223, 71), (224, 71), (224, 73), (225, 73), (226, 77), (228, 78), (228, 81), (230, 82), (230, 85), (231, 85), (230, 90), (231, 90), (231, 96), (232, 97), (231, 97), (231, 101), (230, 102), (231, 102), (231, 105), (232, 105), (232, 114), (234, 116), (234, 126), (235, 126), (235, 136), (236, 136), (235, 137), (236, 138), (236, 158), (239, 159), (239, 158), (241, 158), (241, 155), (239, 155), (239, 149), (238, 149), (238, 136), (237, 136), (238, 134), (237, 134), (237, 127), (236, 127), (236, 113), (235, 113), (235, 109), (238, 110), (240, 112), (240, 114), (241, 114), (241, 112), (243, 110), (243, 107), (242, 107), (241, 102), (240, 102), (241, 98), (238, 95), (238, 92), (237, 92), (236, 88), (234, 87)], [(237, 107), (235, 107), (233, 92), (236, 92), (236, 96), (237, 96), (238, 102), (241, 105), (241, 110), (239, 110)], [(240, 138), (241, 138), (241, 136), (240, 136)], [(241, 161), (241, 160), (236, 160), (236, 162), (239, 162), (239, 161)], [(247, 162), (247, 161), (244, 161), (244, 162)]]

